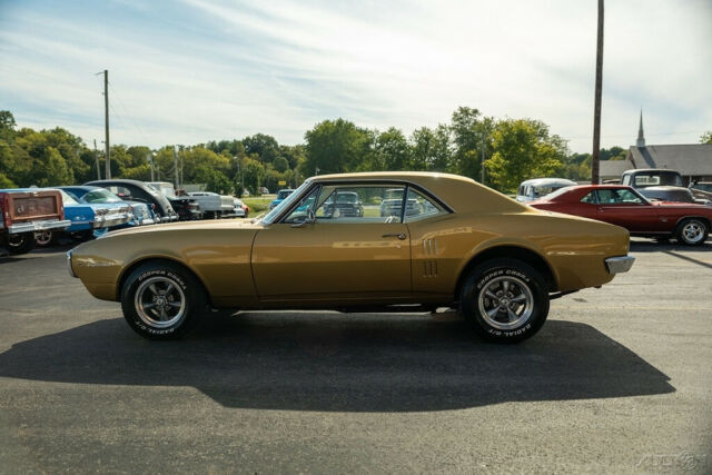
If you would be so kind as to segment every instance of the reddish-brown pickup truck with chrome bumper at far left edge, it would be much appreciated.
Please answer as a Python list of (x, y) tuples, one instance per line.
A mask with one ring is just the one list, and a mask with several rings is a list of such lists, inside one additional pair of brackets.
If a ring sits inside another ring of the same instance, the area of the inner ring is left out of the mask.
[(58, 190), (0, 190), (0, 240), (8, 253), (26, 254), (34, 248), (34, 232), (66, 229), (65, 205)]

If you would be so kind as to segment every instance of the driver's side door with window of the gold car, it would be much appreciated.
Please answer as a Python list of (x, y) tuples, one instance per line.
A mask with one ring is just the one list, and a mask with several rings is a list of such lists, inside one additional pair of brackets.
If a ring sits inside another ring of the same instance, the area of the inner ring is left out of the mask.
[[(408, 228), (402, 209), (397, 216), (382, 217), (378, 206), (393, 188), (319, 185), (279, 222), (260, 229), (251, 257), (260, 300), (376, 301), (409, 296)], [(339, 192), (356, 192), (359, 208), (347, 209)]]

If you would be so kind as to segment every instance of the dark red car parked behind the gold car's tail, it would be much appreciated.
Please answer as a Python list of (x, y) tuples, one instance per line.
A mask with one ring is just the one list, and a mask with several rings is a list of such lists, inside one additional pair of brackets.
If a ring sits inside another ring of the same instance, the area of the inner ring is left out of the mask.
[(622, 226), (632, 236), (674, 237), (691, 246), (703, 244), (712, 227), (712, 206), (649, 201), (621, 185), (566, 187), (528, 205)]

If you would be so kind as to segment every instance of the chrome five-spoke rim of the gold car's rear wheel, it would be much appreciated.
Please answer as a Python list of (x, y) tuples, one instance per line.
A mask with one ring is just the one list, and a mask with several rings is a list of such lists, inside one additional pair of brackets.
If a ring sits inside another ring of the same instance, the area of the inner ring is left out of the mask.
[(492, 327), (508, 330), (524, 325), (534, 311), (534, 296), (524, 280), (502, 276), (479, 290), (477, 305), (482, 318)]

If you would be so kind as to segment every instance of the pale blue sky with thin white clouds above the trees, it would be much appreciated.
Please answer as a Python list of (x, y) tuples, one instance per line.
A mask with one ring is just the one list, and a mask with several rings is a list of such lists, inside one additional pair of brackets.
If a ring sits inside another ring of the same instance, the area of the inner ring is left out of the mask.
[[(602, 145), (712, 130), (712, 2), (606, 2)], [(0, 109), (112, 144), (270, 133), (324, 119), (409, 135), (458, 106), (591, 148), (595, 0), (0, 0)], [(99, 146), (101, 147), (101, 146)]]

